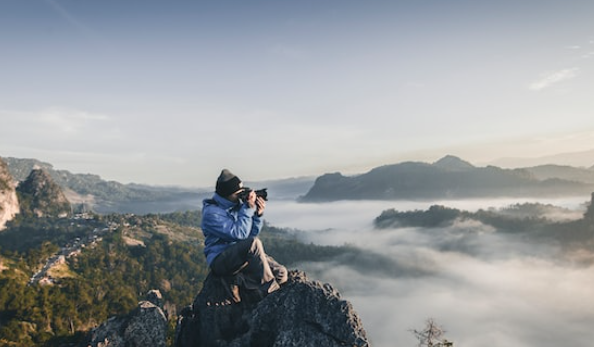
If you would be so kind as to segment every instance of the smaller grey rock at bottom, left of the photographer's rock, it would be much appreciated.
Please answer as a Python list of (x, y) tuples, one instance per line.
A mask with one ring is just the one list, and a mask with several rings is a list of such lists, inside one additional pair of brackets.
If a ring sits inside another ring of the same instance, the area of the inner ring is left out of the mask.
[(130, 314), (112, 317), (93, 329), (80, 347), (165, 347), (167, 317), (160, 302), (161, 293), (150, 291)]

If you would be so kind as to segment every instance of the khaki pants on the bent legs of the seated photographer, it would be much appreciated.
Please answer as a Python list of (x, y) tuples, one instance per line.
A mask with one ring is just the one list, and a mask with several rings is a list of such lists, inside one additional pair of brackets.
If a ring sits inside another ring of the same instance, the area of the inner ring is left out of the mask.
[(217, 276), (237, 276), (246, 289), (271, 293), (287, 281), (287, 269), (264, 252), (262, 241), (249, 237), (229, 246), (210, 264)]

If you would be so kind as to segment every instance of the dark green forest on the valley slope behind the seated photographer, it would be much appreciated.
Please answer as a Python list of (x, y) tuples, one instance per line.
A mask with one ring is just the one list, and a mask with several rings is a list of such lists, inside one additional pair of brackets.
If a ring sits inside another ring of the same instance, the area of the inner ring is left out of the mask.
[[(17, 218), (0, 233), (0, 345), (75, 343), (109, 317), (128, 313), (151, 289), (163, 295), (173, 334), (177, 311), (192, 303), (208, 273), (199, 223), (199, 211)], [(101, 241), (87, 243), (49, 272), (53, 284), (29, 284), (48, 258), (97, 230)], [(291, 235), (269, 225), (261, 234), (267, 252), (289, 267), (352, 252), (303, 244)], [(130, 239), (143, 245), (131, 246)]]

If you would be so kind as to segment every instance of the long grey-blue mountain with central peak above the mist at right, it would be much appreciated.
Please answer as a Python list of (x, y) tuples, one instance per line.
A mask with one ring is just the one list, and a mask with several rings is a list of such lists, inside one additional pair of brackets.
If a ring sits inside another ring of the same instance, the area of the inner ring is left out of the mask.
[(357, 199), (436, 199), (579, 195), (594, 189), (591, 181), (559, 177), (539, 179), (527, 169), (475, 167), (454, 156), (433, 164), (404, 162), (346, 177), (320, 176), (302, 201)]

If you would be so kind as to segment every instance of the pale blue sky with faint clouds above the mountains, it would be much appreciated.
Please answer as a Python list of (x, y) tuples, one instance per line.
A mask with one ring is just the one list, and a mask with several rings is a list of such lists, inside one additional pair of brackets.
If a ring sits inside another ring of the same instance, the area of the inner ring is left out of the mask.
[[(213, 186), (590, 153), (594, 2), (0, 0), (0, 156)], [(590, 151), (590, 152), (588, 152)], [(589, 159), (591, 158), (591, 159)]]

